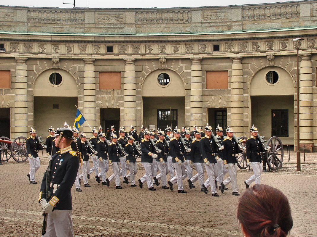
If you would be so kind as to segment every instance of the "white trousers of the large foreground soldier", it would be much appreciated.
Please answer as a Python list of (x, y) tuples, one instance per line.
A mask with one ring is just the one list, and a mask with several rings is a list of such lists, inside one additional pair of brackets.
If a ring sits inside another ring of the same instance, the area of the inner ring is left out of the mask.
[(46, 233), (42, 237), (74, 237), (72, 210), (54, 210), (47, 215)]

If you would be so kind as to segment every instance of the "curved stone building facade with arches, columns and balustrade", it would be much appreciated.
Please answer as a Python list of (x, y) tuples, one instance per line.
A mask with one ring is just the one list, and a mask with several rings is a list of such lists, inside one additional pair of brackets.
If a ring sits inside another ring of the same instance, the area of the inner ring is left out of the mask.
[(73, 124), (78, 106), (91, 127), (208, 122), (248, 136), (255, 124), (294, 145), (299, 37), (300, 143), (317, 147), (315, 0), (1, 9), (0, 131), (11, 139)]

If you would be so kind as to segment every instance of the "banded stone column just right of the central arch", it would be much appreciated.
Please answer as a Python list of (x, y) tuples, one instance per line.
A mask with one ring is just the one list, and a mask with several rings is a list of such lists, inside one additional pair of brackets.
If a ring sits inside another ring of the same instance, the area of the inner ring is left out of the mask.
[(204, 126), (203, 121), (203, 79), (201, 71), (202, 58), (191, 58), (191, 124)]

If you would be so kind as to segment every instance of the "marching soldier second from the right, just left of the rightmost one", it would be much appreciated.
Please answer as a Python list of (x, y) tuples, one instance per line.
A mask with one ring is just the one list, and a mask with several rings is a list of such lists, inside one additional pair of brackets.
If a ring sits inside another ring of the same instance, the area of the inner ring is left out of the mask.
[(233, 138), (233, 129), (229, 128), (229, 126), (226, 129), (226, 134), (227, 134), (227, 137), (223, 139), (223, 142), (222, 142), (222, 145), (224, 147), (223, 148), (223, 165), (225, 166), (226, 169), (228, 169), (229, 177), (223, 180), (223, 183), (221, 183), (221, 192), (223, 193), (225, 186), (231, 182), (232, 195), (240, 196), (240, 193), (238, 193), (238, 185), (237, 185), (238, 165), (237, 165), (236, 154), (241, 153), (241, 150), (239, 149), (238, 144)]

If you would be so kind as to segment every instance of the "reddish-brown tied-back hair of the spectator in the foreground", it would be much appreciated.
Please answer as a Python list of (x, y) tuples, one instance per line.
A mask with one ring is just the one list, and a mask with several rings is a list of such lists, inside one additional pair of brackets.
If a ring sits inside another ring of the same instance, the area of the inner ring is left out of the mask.
[(249, 237), (286, 237), (293, 227), (287, 197), (264, 184), (255, 184), (241, 196), (237, 218)]

